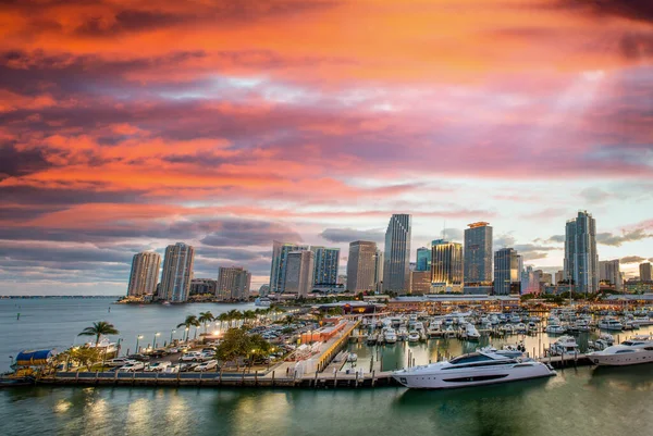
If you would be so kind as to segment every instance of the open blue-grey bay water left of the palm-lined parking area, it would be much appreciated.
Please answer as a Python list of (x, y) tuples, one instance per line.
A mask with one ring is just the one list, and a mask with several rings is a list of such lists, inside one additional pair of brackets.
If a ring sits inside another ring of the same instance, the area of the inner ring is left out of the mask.
[[(77, 336), (85, 327), (97, 321), (108, 321), (120, 332), (111, 336), (112, 341), (121, 339), (123, 352), (136, 349), (136, 337), (143, 335), (139, 347), (148, 344), (170, 342), (181, 339), (184, 328), (176, 328), (187, 315), (199, 315), (210, 311), (213, 315), (236, 309), (256, 309), (254, 303), (218, 304), (194, 303), (183, 306), (161, 304), (113, 304), (115, 298), (48, 298), (48, 299), (2, 299), (0, 300), (0, 372), (8, 371), (10, 356), (25, 349), (57, 348), (63, 351), (72, 345), (95, 340), (88, 336)], [(111, 310), (109, 310), (111, 309)], [(16, 320), (17, 313), (21, 319)], [(198, 331), (198, 334), (204, 328)], [(173, 331), (176, 331), (173, 333)], [(190, 337), (195, 329), (190, 331)]]

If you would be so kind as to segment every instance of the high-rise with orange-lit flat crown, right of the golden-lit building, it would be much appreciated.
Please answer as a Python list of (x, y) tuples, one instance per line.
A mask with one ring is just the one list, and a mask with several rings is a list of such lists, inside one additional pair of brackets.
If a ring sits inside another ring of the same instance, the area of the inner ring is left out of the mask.
[(465, 229), (465, 287), (492, 286), (492, 227), (469, 224)]

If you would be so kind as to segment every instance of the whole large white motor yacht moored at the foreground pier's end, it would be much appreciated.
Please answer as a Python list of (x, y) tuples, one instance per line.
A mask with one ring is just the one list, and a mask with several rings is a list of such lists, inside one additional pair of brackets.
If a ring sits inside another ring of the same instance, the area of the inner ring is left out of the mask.
[(490, 385), (555, 375), (555, 371), (530, 359), (515, 359), (491, 351), (463, 354), (451, 361), (395, 371), (393, 377), (415, 389), (445, 389)]

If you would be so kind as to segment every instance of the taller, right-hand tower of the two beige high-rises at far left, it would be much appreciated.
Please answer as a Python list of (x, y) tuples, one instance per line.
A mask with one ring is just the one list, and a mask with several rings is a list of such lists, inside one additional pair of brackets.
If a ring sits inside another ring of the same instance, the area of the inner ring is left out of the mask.
[(184, 302), (188, 298), (193, 279), (195, 249), (184, 242), (165, 248), (161, 295), (170, 302)]

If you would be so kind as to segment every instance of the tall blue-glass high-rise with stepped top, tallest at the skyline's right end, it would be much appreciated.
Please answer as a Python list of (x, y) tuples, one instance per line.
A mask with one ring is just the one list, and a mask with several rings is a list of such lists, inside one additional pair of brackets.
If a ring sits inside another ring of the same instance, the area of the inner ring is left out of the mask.
[(565, 231), (565, 277), (572, 281), (577, 292), (599, 290), (599, 254), (596, 222), (587, 211), (567, 221)]

